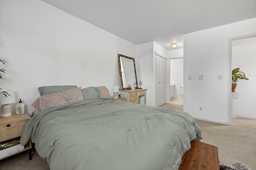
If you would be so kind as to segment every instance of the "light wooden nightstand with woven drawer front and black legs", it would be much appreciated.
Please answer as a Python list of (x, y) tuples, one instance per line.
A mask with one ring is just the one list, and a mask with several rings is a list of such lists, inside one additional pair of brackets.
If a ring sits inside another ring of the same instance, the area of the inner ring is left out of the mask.
[[(20, 137), (22, 134), (22, 131), (24, 129), (25, 124), (28, 122), (28, 120), (31, 117), (27, 114), (13, 114), (11, 117), (5, 117), (0, 118), (0, 143), (2, 141), (6, 141), (9, 139), (13, 139), (16, 137)], [(28, 143), (24, 146), (23, 150), (20, 150), (18, 152), (14, 152), (12, 154), (9, 154), (7, 156), (4, 156), (0, 158), (0, 160), (4, 158), (8, 158), (9, 156), (12, 156), (14, 154), (23, 152), (25, 150), (29, 150), (29, 160), (32, 159), (32, 143), (31, 140), (28, 141)]]

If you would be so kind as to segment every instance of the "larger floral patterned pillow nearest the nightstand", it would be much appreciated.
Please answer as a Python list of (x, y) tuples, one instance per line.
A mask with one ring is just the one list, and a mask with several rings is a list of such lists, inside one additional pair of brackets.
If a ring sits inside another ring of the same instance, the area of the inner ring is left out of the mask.
[(40, 96), (32, 104), (32, 106), (34, 106), (37, 111), (41, 111), (48, 107), (60, 106), (71, 102), (77, 102), (80, 100), (84, 100), (81, 87)]

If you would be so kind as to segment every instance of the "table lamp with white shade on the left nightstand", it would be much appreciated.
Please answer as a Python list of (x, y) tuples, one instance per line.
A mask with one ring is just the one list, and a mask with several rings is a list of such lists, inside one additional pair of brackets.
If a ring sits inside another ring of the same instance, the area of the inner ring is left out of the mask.
[(14, 96), (14, 91), (13, 90), (7, 90), (6, 91), (9, 95), (4, 96), (0, 94), (0, 105), (1, 106), (1, 117), (10, 117), (12, 116), (12, 107), (10, 106), (11, 103), (16, 102), (15, 101), (15, 96)]

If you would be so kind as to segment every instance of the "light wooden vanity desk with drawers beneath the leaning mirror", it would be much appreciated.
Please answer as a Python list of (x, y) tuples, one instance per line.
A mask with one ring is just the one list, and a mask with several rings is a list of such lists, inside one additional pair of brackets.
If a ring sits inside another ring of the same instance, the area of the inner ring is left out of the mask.
[(122, 98), (126, 98), (127, 102), (131, 102), (134, 104), (140, 104), (139, 98), (144, 96), (144, 105), (146, 105), (146, 90), (147, 89), (135, 89), (135, 90), (120, 90), (120, 96)]

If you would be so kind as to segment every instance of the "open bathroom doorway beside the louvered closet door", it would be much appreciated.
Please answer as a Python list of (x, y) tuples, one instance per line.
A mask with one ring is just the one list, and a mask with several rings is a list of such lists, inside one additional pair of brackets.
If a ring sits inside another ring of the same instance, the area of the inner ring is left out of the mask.
[(170, 104), (183, 107), (183, 88), (183, 58), (170, 59)]

